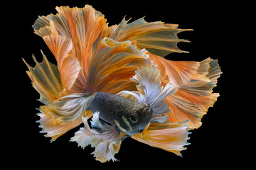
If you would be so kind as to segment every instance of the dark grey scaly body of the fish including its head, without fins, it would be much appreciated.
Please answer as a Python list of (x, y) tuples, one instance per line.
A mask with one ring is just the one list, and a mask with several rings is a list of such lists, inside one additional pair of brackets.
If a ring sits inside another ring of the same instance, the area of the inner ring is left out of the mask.
[(144, 130), (153, 113), (146, 103), (105, 92), (97, 92), (89, 109), (93, 113), (98, 111), (102, 122), (117, 125), (119, 130), (130, 136)]

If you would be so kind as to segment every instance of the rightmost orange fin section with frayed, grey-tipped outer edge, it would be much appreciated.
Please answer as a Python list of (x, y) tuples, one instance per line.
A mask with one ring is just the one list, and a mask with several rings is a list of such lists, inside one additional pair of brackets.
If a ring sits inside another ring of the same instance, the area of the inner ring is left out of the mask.
[(169, 120), (189, 120), (189, 128), (199, 128), (202, 124), (201, 118), (217, 101), (219, 94), (213, 93), (213, 87), (221, 73), (217, 60), (203, 60), (198, 68), (198, 76), (183, 84), (176, 94), (166, 98), (169, 106), (173, 108)]

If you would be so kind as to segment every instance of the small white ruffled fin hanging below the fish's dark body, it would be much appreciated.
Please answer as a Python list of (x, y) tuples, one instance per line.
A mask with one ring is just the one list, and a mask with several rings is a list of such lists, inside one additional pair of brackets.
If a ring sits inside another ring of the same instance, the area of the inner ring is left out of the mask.
[(102, 124), (99, 119), (99, 112), (93, 114), (92, 128), (88, 124), (88, 118), (82, 117), (84, 128), (80, 128), (78, 132), (75, 132), (75, 136), (71, 138), (70, 142), (77, 142), (78, 147), (85, 148), (88, 145), (95, 148), (92, 152), (95, 159), (102, 163), (112, 160), (117, 161), (114, 158), (114, 154), (119, 152), (121, 146), (122, 135), (116, 126)]

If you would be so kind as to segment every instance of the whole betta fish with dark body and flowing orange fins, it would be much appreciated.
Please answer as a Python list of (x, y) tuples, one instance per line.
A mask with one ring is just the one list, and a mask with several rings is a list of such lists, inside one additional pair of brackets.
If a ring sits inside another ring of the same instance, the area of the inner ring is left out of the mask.
[(38, 110), (41, 132), (55, 141), (83, 124), (70, 141), (92, 152), (100, 162), (116, 161), (126, 137), (181, 156), (188, 135), (217, 101), (213, 87), (222, 73), (218, 60), (166, 60), (177, 47), (177, 24), (144, 18), (108, 26), (90, 5), (56, 7), (33, 25), (57, 64), (28, 67), (43, 103)]

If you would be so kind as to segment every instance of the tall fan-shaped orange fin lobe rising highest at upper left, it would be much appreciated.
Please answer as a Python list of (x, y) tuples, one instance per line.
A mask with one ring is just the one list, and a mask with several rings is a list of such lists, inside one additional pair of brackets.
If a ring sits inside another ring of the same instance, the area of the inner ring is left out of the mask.
[[(61, 75), (65, 80), (63, 88), (70, 89), (75, 83), (73, 91), (85, 92), (89, 60), (100, 40), (112, 35), (116, 26), (109, 28), (104, 15), (90, 5), (84, 8), (60, 6), (56, 9), (56, 15), (39, 16), (33, 25), (34, 31), (43, 37), (55, 55), (58, 67), (62, 69), (60, 73), (65, 72), (65, 75)], [(68, 61), (64, 61), (66, 57)], [(81, 72), (79, 68), (82, 68)], [(73, 75), (68, 74), (71, 70)]]

